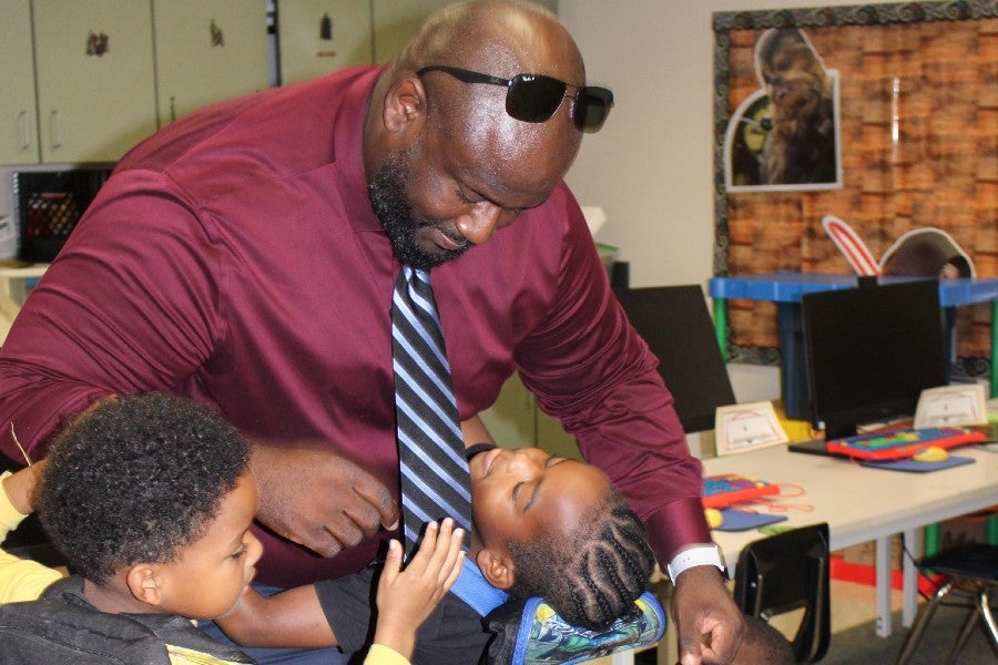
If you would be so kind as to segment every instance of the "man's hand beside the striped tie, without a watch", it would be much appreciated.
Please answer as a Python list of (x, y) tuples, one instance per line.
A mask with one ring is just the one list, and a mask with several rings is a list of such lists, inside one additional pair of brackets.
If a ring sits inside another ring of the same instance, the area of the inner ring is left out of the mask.
[(398, 505), (377, 478), (320, 447), (253, 446), (259, 487), (256, 518), (284, 538), (335, 556), (378, 526), (398, 528)]

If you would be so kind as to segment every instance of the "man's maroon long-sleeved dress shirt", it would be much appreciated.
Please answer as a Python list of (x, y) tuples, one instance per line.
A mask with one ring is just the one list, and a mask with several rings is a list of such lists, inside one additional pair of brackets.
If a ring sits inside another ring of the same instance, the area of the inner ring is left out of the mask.
[[(320, 437), (397, 487), (391, 288), (371, 211), (354, 68), (211, 106), (125, 155), (0, 349), (0, 448), (40, 456), (109, 392), (217, 405), (249, 437)], [(568, 187), (434, 270), (461, 418), (518, 370), (649, 526), (662, 563), (709, 542), (701, 467), (655, 358), (610, 290)], [(371, 539), (322, 559), (259, 530), (259, 579), (354, 572)]]

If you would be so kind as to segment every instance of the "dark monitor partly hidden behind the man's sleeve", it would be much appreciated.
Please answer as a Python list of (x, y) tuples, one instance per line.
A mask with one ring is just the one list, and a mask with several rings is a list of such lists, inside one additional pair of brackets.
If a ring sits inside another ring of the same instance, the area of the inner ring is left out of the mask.
[(628, 320), (659, 358), (683, 430), (714, 429), (714, 410), (735, 403), (700, 286), (614, 289)]

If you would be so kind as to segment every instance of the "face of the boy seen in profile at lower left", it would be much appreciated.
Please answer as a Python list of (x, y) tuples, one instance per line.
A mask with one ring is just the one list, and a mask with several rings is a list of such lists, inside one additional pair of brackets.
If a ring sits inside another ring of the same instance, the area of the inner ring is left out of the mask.
[(204, 536), (182, 548), (165, 567), (170, 590), (163, 610), (190, 618), (230, 612), (256, 574), (263, 545), (249, 532), (256, 514), (256, 481), (249, 473), (225, 495)]

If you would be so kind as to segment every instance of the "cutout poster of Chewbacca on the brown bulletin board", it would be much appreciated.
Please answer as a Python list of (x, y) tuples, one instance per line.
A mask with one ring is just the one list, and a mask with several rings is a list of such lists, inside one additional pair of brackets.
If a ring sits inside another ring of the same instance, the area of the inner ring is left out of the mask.
[(838, 72), (803, 31), (773, 28), (755, 43), (755, 74), (761, 88), (727, 125), (727, 191), (842, 187)]

